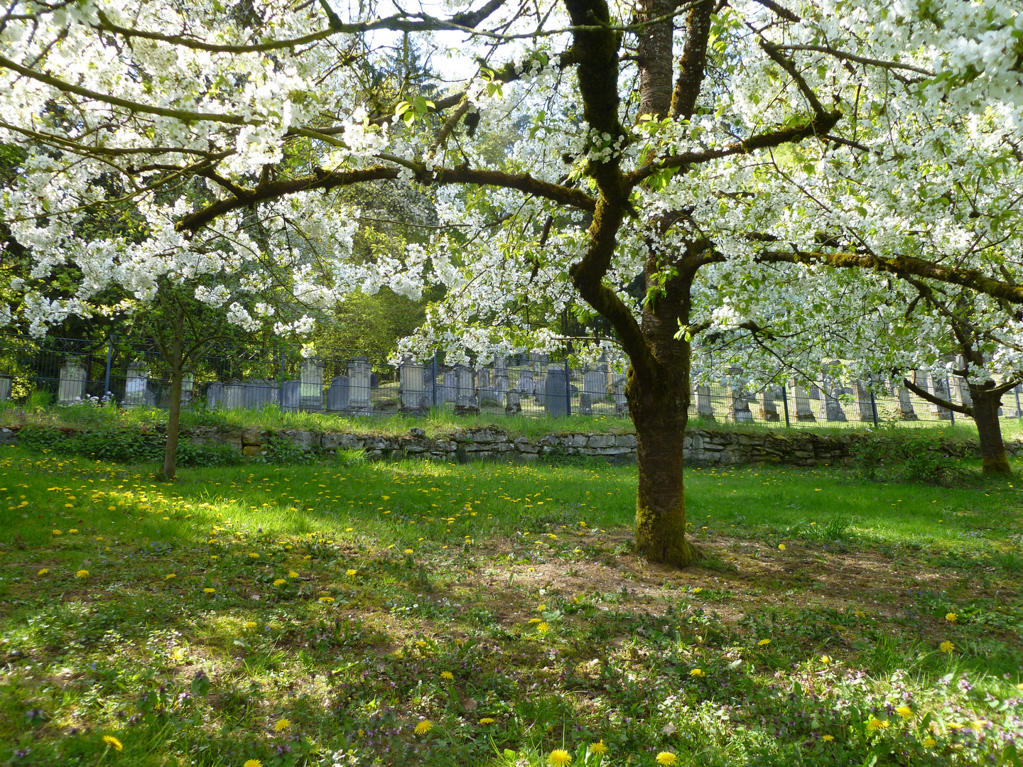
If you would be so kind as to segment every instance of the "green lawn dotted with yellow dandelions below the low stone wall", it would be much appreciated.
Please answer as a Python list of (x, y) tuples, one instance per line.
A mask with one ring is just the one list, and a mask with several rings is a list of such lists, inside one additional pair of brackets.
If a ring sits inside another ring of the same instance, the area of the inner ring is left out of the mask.
[(0, 447), (0, 762), (1019, 765), (1012, 483), (694, 469), (679, 572), (629, 466), (153, 469)]

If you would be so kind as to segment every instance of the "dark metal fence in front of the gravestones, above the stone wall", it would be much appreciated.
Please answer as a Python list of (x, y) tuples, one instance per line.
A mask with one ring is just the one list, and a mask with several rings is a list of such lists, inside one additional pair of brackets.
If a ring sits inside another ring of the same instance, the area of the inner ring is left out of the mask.
[[(357, 349), (301, 349), (279, 342), (222, 346), (191, 360), (185, 406), (210, 409), (276, 407), (285, 412), (338, 415), (455, 413), (528, 416), (589, 415), (628, 418), (625, 375), (607, 364), (572, 368), (529, 354), (482, 366), (447, 365), (442, 358), (392, 364), (388, 355)], [(735, 371), (739, 378), (741, 371)], [(969, 402), (962, 379), (913, 373), (919, 388)], [(40, 398), (72, 404), (106, 398), (124, 407), (167, 407), (170, 380), (155, 344), (137, 339), (100, 341), (0, 335), (0, 402)], [(1003, 398), (1005, 418), (1023, 418), (1020, 388)], [(816, 386), (760, 390), (722, 385), (694, 388), (691, 417), (768, 426), (903, 425), (954, 422), (954, 412), (876, 377), (845, 384), (826, 375)]]

